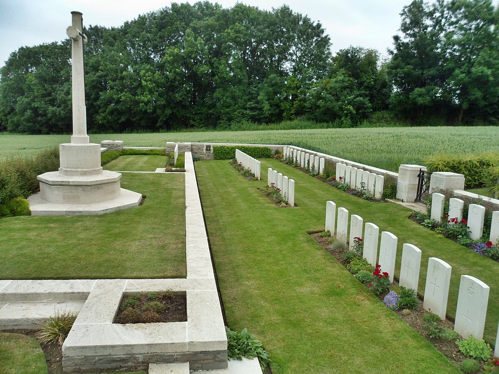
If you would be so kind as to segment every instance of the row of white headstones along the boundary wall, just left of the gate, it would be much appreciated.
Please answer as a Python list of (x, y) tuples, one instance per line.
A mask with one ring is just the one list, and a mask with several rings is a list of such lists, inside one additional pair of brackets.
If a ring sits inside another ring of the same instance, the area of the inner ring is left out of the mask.
[(374, 198), (381, 199), (383, 197), (385, 177), (381, 175), (370, 173), (350, 165), (336, 163), (335, 177), (337, 182), (346, 183), (352, 189), (361, 190), (364, 188), (366, 192), (372, 193)]

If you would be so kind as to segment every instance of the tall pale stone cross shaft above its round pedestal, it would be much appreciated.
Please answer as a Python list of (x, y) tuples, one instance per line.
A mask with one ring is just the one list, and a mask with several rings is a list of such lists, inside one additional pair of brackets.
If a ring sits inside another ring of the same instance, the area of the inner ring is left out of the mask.
[(83, 45), (87, 37), (83, 32), (83, 17), (79, 11), (72, 11), (72, 25), (66, 29), (71, 38), (71, 75), (73, 100), (73, 136), (71, 143), (88, 144), (87, 113), (85, 108), (85, 78), (83, 71)]

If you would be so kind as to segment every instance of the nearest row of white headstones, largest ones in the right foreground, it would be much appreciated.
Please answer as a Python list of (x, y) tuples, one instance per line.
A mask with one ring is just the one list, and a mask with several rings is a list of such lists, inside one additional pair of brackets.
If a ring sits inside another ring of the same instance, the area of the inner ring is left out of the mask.
[[(335, 222), (336, 220), (337, 222)], [(346, 244), (348, 210), (339, 207), (336, 219), (336, 204), (333, 201), (327, 201), (325, 230), (329, 230), (331, 235), (334, 235), (335, 226), (336, 239)], [(350, 218), (350, 247), (353, 246), (355, 237), (362, 238), (363, 257), (373, 266), (380, 264), (382, 271), (388, 272), (390, 282), (393, 282), (397, 237), (388, 231), (381, 233), (379, 260), (377, 262), (379, 227), (368, 222), (365, 224), (364, 235), (362, 231), (363, 219), (352, 214)], [(404, 243), (399, 285), (417, 291), (420, 266), (421, 250), (415, 245)], [(446, 318), (447, 313), (451, 271), (452, 267), (445, 261), (436, 257), (429, 258), (423, 308), (437, 314), (442, 320)], [(461, 276), (454, 330), (464, 338), (473, 335), (479, 340), (483, 339), (489, 291), (490, 287), (481, 280), (470, 275)], [(496, 340), (495, 356), (499, 356), (499, 334)]]

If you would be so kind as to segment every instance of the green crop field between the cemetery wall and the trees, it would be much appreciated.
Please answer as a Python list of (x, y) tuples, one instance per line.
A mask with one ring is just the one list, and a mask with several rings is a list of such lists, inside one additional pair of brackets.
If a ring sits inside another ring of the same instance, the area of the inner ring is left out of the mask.
[[(166, 142), (282, 144), (303, 147), (397, 172), (424, 164), (436, 153), (499, 151), (498, 127), (413, 127), (90, 135), (92, 143), (123, 140), (125, 147), (165, 147)], [(0, 135), (0, 159), (33, 154), (70, 142), (69, 135)]]

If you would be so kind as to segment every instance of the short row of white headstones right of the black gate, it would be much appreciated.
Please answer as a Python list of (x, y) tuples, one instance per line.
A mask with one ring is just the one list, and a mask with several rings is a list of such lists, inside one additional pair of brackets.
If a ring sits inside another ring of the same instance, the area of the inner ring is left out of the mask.
[[(430, 218), (442, 223), (444, 215), (445, 196), (442, 193), (432, 193), (432, 210)], [(460, 222), (463, 219), (464, 201), (452, 197), (449, 199), (449, 218), (457, 218)], [(470, 237), (473, 240), (480, 239), (484, 233), (485, 207), (478, 204), (470, 204), (468, 210), (467, 225), (470, 228)], [(499, 240), (499, 211), (492, 212), (491, 234), (489, 240), (494, 244)]]

